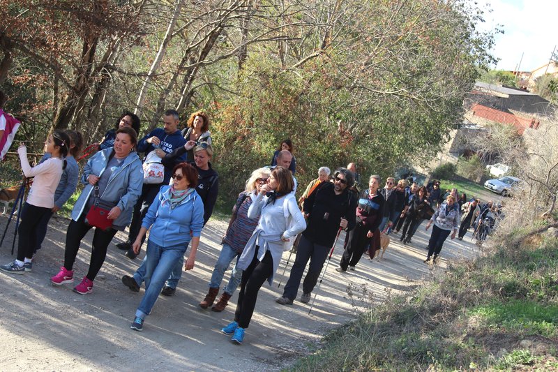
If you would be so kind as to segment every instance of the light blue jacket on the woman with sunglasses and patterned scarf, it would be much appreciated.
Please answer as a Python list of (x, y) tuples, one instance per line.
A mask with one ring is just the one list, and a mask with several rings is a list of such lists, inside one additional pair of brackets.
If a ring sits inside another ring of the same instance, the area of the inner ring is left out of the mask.
[(184, 244), (186, 249), (191, 237), (199, 237), (202, 234), (204, 202), (193, 190), (171, 210), (169, 189), (170, 186), (161, 186), (144, 217), (142, 228), (151, 227), (149, 240), (159, 246), (166, 248)]

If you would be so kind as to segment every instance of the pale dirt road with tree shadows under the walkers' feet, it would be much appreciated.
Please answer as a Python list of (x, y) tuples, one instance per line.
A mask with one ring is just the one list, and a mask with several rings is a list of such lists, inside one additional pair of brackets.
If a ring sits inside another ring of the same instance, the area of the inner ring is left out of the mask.
[[(6, 221), (6, 216), (0, 216), (0, 232)], [(278, 283), (289, 255), (285, 253), (273, 287), (264, 284), (260, 292), (243, 345), (234, 345), (220, 328), (233, 318), (238, 291), (223, 313), (197, 306), (206, 294), (225, 222), (211, 220), (206, 225), (195, 269), (183, 275), (174, 297), (160, 296), (143, 332), (131, 330), (130, 322), (144, 292), (133, 293), (121, 284), (121, 276), (133, 274), (140, 260), (128, 260), (114, 245), (91, 295), (77, 295), (72, 285), (50, 285), (50, 276), (62, 264), (67, 227), (68, 220), (52, 219), (32, 273), (0, 272), (1, 371), (278, 371), (306, 354), (326, 330), (354, 318), (356, 309), (363, 309), (365, 304), (354, 304), (347, 295), (349, 285), (357, 290), (365, 285), (375, 301), (381, 302), (387, 288), (393, 292), (409, 290), (431, 276), (432, 270), (443, 270), (447, 260), (478, 254), (469, 233), (464, 241), (446, 243), (442, 262), (428, 267), (423, 264), (428, 239), (423, 223), (410, 246), (402, 246), (398, 236), (392, 235), (383, 260), (363, 258), (356, 271), (340, 274), (335, 267), (342, 253), (341, 236), (308, 315), (306, 304), (296, 301), (293, 306), (281, 306), (275, 302), (282, 294)], [(13, 224), (0, 248), (2, 264), (13, 260), (12, 236)], [(90, 232), (77, 256), (76, 278), (84, 276), (89, 265), (91, 236)], [(124, 237), (119, 232), (114, 242)], [(289, 269), (287, 278), (288, 274)]]

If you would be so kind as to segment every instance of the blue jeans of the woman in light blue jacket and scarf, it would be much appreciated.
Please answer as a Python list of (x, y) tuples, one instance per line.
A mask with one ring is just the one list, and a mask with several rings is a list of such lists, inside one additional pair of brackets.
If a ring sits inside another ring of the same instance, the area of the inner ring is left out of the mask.
[[(136, 316), (144, 319), (151, 313), (170, 271), (186, 253), (186, 245), (162, 247), (150, 240), (147, 241), (147, 253), (142, 266), (145, 265), (145, 294), (135, 312)], [(134, 275), (135, 276), (135, 275)]]

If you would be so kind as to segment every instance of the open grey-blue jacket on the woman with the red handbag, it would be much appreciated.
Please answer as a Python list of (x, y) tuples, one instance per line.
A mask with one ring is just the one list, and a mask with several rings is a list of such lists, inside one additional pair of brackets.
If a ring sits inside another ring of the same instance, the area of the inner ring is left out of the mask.
[[(85, 185), (80, 198), (77, 198), (74, 208), (72, 209), (72, 219), (77, 221), (87, 207), (87, 200), (93, 194), (93, 186), (87, 181), (89, 174), (99, 176), (105, 171), (107, 163), (109, 162), (110, 149), (104, 149), (97, 154), (91, 156), (82, 174), (82, 184)], [(103, 194), (100, 195), (101, 200), (106, 202), (113, 202), (122, 211), (120, 216), (114, 220), (113, 225), (115, 228), (123, 228), (130, 224), (132, 221), (132, 211), (142, 193), (142, 186), (144, 181), (144, 170), (142, 168), (142, 161), (137, 156), (137, 152), (132, 151), (124, 159), (124, 163), (113, 172), (107, 183), (107, 187)], [(87, 213), (87, 211), (85, 211)]]

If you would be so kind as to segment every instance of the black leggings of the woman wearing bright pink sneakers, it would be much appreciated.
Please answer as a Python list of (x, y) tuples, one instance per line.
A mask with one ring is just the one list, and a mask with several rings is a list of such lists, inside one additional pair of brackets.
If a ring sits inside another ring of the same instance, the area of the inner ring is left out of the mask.
[[(82, 216), (80, 216), (77, 221), (72, 220), (70, 221), (70, 225), (68, 225), (68, 231), (66, 232), (66, 251), (64, 252), (64, 267), (66, 270), (73, 269), (75, 256), (77, 256), (77, 251), (80, 250), (82, 239), (93, 227), (85, 223), (85, 215), (85, 212), (82, 213)], [(91, 262), (89, 262), (89, 271), (87, 271), (86, 275), (90, 281), (95, 280), (100, 268), (103, 266), (103, 262), (105, 262), (105, 257), (107, 256), (107, 248), (114, 235), (116, 235), (116, 230), (112, 228), (108, 231), (95, 228), (91, 246)]]

